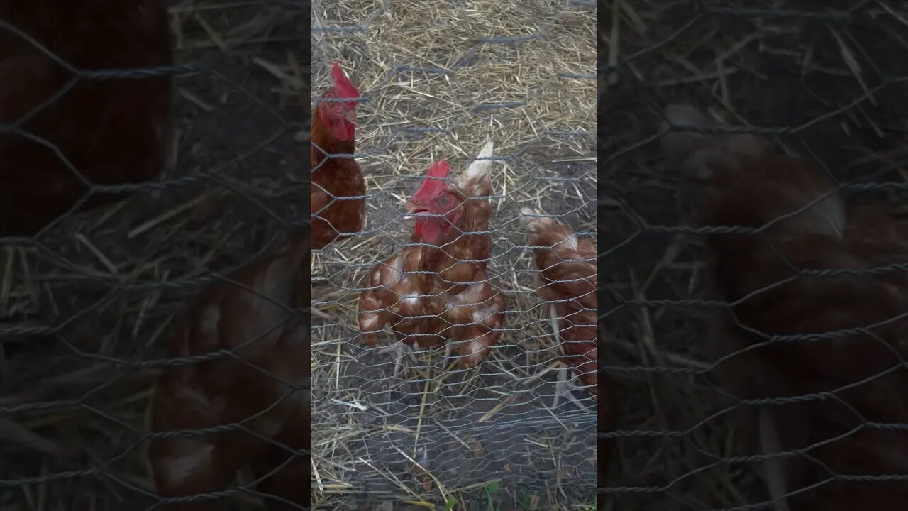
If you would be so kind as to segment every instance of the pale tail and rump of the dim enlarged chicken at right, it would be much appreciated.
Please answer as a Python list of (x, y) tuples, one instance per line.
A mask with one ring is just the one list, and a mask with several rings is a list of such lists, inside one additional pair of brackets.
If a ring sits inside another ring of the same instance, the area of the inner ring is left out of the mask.
[[(691, 105), (668, 105), (665, 117), (664, 130), (708, 125)], [(829, 176), (803, 157), (775, 154), (762, 136), (668, 131), (661, 148), (686, 177), (707, 185), (703, 196), (713, 210), (710, 221), (749, 226), (778, 221), (788, 232), (843, 234), (844, 205)], [(730, 214), (743, 211), (741, 205), (749, 212)]]

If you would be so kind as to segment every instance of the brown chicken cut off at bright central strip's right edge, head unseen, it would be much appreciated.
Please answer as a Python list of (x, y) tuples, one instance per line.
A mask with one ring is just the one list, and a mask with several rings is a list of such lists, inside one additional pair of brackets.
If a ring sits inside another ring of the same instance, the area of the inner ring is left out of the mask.
[[(577, 368), (580, 381), (587, 391), (597, 394), (597, 271), (596, 245), (587, 239), (577, 239), (568, 225), (554, 218), (539, 216), (532, 209), (522, 208), (520, 223), (527, 233), (527, 243), (539, 270), (536, 294), (547, 302), (552, 333), (570, 366)], [(547, 248), (538, 248), (547, 247)], [(568, 367), (558, 372), (558, 397), (567, 396), (581, 408), (571, 394)]]

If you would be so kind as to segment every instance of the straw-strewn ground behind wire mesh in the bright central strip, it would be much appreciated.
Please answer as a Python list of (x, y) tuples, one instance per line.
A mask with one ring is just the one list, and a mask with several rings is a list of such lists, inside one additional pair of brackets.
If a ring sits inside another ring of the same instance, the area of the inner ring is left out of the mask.
[[(365, 98), (356, 158), (368, 196), (364, 231), (313, 252), (313, 508), (592, 506), (596, 405), (580, 391), (586, 408), (553, 407), (559, 343), (518, 217), (529, 206), (595, 236), (595, 5), (341, 0), (312, 15), (313, 105), (334, 61)], [(488, 139), (498, 345), (466, 370), (445, 347), (418, 349), (395, 376), (396, 358), (360, 336), (367, 270), (410, 245), (404, 205), (430, 163), (460, 175)]]

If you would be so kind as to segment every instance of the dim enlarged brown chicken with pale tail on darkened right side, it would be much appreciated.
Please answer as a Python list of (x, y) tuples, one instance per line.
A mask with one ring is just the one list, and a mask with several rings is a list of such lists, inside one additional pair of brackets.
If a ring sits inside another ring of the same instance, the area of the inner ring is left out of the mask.
[[(706, 124), (688, 105), (666, 117)], [(753, 230), (716, 232), (707, 247), (731, 304), (715, 339), (726, 389), (802, 397), (747, 406), (753, 442), (786, 453), (765, 461), (776, 509), (904, 509), (908, 430), (893, 425), (908, 424), (908, 272), (895, 265), (908, 262), (908, 229), (846, 207), (814, 162), (757, 136), (673, 132), (663, 150), (699, 182), (702, 224)]]

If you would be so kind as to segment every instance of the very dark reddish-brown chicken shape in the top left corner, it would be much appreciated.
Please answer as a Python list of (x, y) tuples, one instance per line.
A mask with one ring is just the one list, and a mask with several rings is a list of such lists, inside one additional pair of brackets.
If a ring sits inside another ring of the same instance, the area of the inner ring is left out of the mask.
[[(94, 185), (152, 179), (164, 166), (171, 80), (77, 79), (77, 70), (172, 65), (163, 0), (0, 2), (0, 236), (34, 235)], [(75, 170), (74, 170), (75, 169)], [(87, 200), (82, 202), (85, 197)]]

